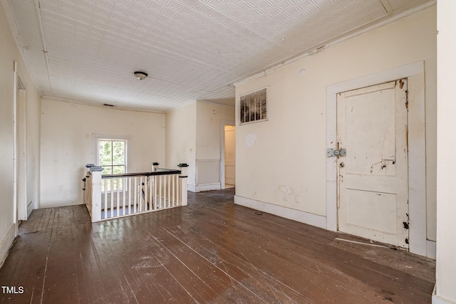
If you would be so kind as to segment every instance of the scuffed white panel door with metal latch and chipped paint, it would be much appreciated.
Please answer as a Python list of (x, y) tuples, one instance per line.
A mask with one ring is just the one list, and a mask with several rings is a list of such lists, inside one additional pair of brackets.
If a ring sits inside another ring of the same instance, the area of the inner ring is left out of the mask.
[(407, 80), (337, 95), (338, 230), (408, 248)]

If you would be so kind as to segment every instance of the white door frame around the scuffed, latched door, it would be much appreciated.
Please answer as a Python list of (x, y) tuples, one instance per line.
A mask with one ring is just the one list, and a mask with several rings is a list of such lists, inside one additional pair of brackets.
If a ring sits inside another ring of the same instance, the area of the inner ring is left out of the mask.
[[(409, 250), (421, 256), (434, 256), (435, 243), (427, 241), (426, 219), (426, 142), (424, 61), (347, 80), (326, 87), (326, 148), (337, 145), (336, 94), (391, 80), (408, 78), (408, 214)], [(326, 159), (326, 229), (337, 231), (336, 157)], [(433, 243), (433, 244), (432, 244)], [(433, 248), (432, 248), (433, 247)]]

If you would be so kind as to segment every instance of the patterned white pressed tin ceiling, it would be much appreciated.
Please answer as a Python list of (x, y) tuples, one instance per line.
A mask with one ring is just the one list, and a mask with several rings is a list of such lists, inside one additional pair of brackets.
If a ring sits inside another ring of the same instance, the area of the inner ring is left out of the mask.
[(234, 105), (237, 80), (435, 2), (2, 1), (43, 97), (158, 112)]

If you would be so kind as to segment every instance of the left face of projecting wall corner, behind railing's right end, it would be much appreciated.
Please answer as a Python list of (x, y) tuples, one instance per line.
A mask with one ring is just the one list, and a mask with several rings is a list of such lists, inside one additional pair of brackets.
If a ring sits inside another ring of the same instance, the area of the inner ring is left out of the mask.
[(196, 101), (166, 113), (166, 167), (188, 164), (189, 188), (195, 187), (196, 134)]

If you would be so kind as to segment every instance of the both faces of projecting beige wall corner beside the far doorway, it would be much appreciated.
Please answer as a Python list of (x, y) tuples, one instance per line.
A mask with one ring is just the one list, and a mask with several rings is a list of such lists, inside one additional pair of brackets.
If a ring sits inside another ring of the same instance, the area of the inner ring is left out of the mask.
[(234, 108), (195, 100), (166, 113), (167, 166), (187, 162), (188, 189), (220, 189), (222, 122), (234, 121)]

